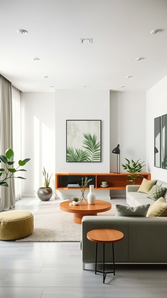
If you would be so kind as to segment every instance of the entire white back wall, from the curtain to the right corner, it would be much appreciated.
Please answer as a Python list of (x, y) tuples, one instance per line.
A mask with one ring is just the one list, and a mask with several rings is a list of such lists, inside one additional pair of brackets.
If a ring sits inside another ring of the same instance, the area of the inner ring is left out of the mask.
[[(55, 93), (21, 93), (22, 158), (31, 158), (26, 164), (27, 180), (22, 181), (22, 193), (34, 194), (43, 186), (43, 165), (53, 173), (53, 193), (55, 173), (115, 172), (116, 154), (111, 151), (118, 143), (120, 163), (125, 162), (125, 157), (146, 161), (145, 110), (144, 92), (64, 89)], [(102, 120), (102, 162), (66, 162), (67, 119)], [(108, 190), (104, 192), (107, 194)], [(101, 195), (100, 190), (98, 193)]]

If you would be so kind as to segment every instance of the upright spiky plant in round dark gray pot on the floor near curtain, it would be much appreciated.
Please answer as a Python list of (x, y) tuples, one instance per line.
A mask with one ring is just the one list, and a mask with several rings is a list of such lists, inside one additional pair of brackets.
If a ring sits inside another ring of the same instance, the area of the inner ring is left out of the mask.
[[(38, 198), (41, 201), (49, 201), (50, 198), (52, 197), (53, 191), (51, 187), (49, 187), (50, 181), (51, 181), (51, 176), (49, 177), (49, 173), (46, 173), (45, 168), (43, 167), (43, 176), (44, 176), (44, 187), (40, 187), (37, 191)], [(49, 178), (48, 178), (49, 177)]]

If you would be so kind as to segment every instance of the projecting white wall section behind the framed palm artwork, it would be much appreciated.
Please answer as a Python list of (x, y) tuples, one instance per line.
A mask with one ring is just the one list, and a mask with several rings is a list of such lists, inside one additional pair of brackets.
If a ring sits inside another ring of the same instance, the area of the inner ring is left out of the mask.
[[(55, 90), (56, 173), (109, 173), (110, 93), (109, 90)], [(101, 120), (101, 162), (66, 162), (66, 120)], [(73, 195), (65, 190), (64, 195)], [(97, 192), (97, 191), (96, 191)], [(108, 193), (105, 190), (103, 193)], [(63, 191), (56, 191), (61, 196)], [(100, 191), (99, 191), (100, 193)], [(77, 194), (76, 194), (77, 195)]]

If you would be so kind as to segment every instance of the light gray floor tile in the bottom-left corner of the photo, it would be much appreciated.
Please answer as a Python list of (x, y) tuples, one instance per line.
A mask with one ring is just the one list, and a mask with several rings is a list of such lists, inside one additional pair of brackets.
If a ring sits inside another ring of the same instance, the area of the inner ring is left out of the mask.
[(40, 298), (43, 287), (8, 287), (0, 288), (1, 298)]

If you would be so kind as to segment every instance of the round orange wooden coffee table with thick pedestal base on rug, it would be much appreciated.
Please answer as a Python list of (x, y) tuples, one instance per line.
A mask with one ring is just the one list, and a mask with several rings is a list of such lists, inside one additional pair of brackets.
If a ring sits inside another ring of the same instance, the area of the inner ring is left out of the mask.
[(97, 213), (105, 212), (111, 209), (111, 203), (96, 200), (94, 205), (89, 205), (86, 200), (86, 205), (69, 205), (73, 200), (60, 203), (60, 209), (65, 212), (74, 213), (75, 224), (81, 224), (82, 218), (85, 215), (97, 215)]

